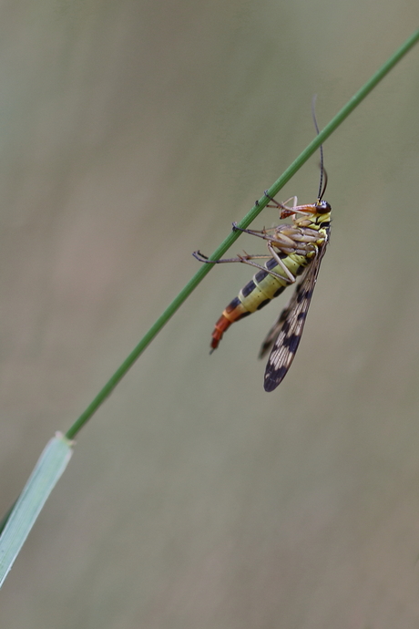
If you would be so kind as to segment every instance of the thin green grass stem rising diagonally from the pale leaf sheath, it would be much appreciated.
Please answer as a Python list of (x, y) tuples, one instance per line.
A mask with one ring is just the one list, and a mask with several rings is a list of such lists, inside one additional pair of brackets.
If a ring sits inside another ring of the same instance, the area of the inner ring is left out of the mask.
[[(412, 36), (410, 36), (404, 42), (403, 46), (400, 46), (398, 50), (396, 50), (393, 55), (383, 64), (380, 69), (373, 74), (371, 78), (363, 85), (361, 89), (359, 89), (356, 94), (353, 95), (344, 107), (332, 118), (328, 125), (312, 140), (312, 142), (304, 149), (301, 154), (298, 156), (296, 160), (291, 163), (291, 166), (285, 170), (281, 177), (276, 180), (271, 188), (268, 191), (268, 194), (271, 197), (274, 197), (278, 192), (283, 188), (283, 186), (291, 180), (291, 177), (297, 172), (297, 170), (301, 169), (301, 166), (310, 158), (312, 154), (319, 149), (320, 145), (328, 139), (332, 132), (337, 129), (352, 112), (353, 109), (358, 107), (364, 98), (368, 96), (368, 94), (375, 88), (380, 81), (383, 80), (391, 69), (406, 55), (409, 50), (417, 44), (419, 41), (419, 29), (417, 29)], [(267, 196), (263, 195), (263, 197), (253, 206), (253, 208), (246, 214), (246, 216), (238, 223), (238, 226), (241, 229), (246, 229), (250, 222), (252, 222), (258, 214), (263, 210), (263, 208), (269, 203), (269, 199)], [(221, 242), (220, 246), (216, 249), (216, 251), (210, 256), (210, 260), (218, 260), (226, 251), (230, 248), (230, 246), (235, 242), (240, 236), (240, 232), (230, 232), (229, 236)], [(97, 411), (97, 408), (100, 407), (106, 398), (112, 393), (115, 387), (117, 387), (119, 381), (127, 374), (128, 369), (134, 365), (138, 357), (143, 353), (146, 347), (151, 343), (161, 328), (166, 325), (170, 319), (170, 317), (176, 313), (181, 304), (189, 297), (189, 294), (198, 286), (198, 284), (203, 280), (207, 273), (210, 273), (212, 268), (212, 264), (203, 264), (199, 267), (199, 271), (195, 273), (192, 279), (188, 284), (180, 291), (180, 293), (175, 297), (171, 304), (166, 308), (166, 310), (158, 317), (158, 320), (154, 325), (150, 327), (147, 334), (143, 336), (138, 345), (132, 350), (129, 356), (124, 360), (121, 366), (117, 369), (115, 374), (107, 381), (105, 387), (103, 387), (97, 397), (95, 397), (92, 402), (89, 404), (87, 409), (80, 415), (77, 421), (73, 424), (71, 428), (66, 432), (66, 438), (73, 439), (76, 437), (78, 431), (83, 428), (88, 419), (92, 417), (92, 415)]]

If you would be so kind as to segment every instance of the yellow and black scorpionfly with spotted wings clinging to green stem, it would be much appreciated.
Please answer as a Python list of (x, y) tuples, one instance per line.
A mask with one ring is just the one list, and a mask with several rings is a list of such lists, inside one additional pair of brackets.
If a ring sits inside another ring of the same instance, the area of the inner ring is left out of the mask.
[[(212, 333), (211, 351), (218, 347), (222, 335), (232, 323), (261, 310), (302, 274), (290, 304), (281, 312), (261, 346), (260, 357), (272, 347), (265, 371), (265, 391), (273, 391), (281, 383), (300, 344), (312, 292), (329, 242), (332, 211), (330, 204), (322, 201), (322, 195), (308, 205), (297, 205), (295, 198), (292, 206), (274, 202), (281, 210), (281, 219), (291, 216), (291, 224), (281, 224), (261, 232), (242, 230), (265, 240), (270, 255), (245, 253), (237, 258), (213, 262), (199, 252), (194, 253), (204, 263), (239, 262), (259, 269), (221, 314)], [(234, 226), (233, 229), (238, 228)], [(254, 262), (266, 258), (269, 259), (263, 266)]]

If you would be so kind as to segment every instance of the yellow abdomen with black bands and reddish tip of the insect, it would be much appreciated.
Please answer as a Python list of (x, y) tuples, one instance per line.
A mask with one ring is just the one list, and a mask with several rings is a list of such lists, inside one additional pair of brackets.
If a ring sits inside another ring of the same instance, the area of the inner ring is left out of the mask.
[[(310, 259), (296, 253), (285, 256), (279, 253), (279, 255), (282, 263), (285, 264), (294, 277), (299, 275), (310, 262)], [(222, 335), (231, 324), (254, 313), (256, 310), (261, 310), (271, 299), (281, 294), (288, 284), (291, 284), (285, 271), (275, 258), (270, 258), (264, 264), (264, 267), (266, 271), (261, 270), (255, 273), (253, 279), (243, 286), (239, 295), (234, 297), (221, 314), (212, 333), (212, 349), (216, 349), (219, 346)], [(283, 279), (271, 275), (270, 272), (281, 275)]]

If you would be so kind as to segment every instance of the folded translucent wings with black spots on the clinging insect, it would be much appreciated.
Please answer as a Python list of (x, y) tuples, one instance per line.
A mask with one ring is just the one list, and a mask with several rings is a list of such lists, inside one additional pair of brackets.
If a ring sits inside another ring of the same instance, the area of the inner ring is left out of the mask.
[(309, 264), (300, 284), (292, 294), (290, 303), (282, 310), (278, 321), (272, 326), (261, 346), (260, 357), (264, 356), (273, 345), (265, 370), (265, 391), (273, 391), (281, 384), (300, 345), (302, 330), (325, 250), (326, 247), (322, 247), (317, 257)]

